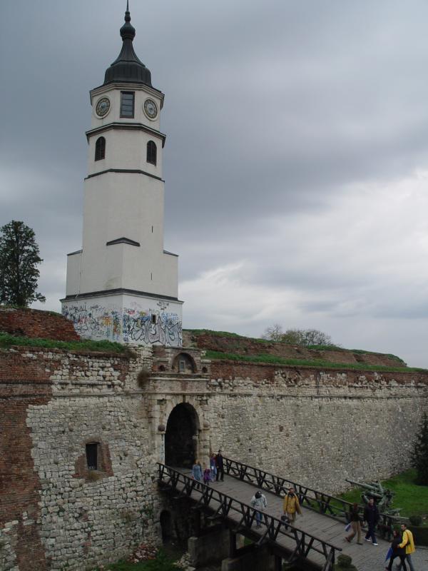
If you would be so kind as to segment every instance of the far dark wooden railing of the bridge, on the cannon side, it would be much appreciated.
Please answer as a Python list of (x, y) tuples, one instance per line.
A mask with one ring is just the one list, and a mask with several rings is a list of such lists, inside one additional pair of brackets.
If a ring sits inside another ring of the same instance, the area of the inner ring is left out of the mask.
[[(297, 497), (299, 498), (300, 505), (305, 505), (311, 510), (315, 510), (324, 515), (330, 515), (336, 519), (348, 521), (348, 514), (350, 507), (352, 507), (351, 502), (342, 500), (340, 497), (335, 497), (325, 492), (320, 492), (319, 490), (313, 490), (311, 487), (302, 485), (298, 482), (293, 482), (292, 480), (286, 480), (283, 477), (275, 476), (265, 472), (265, 470), (260, 470), (260, 468), (254, 468), (248, 464), (239, 462), (238, 460), (232, 460), (231, 458), (223, 458), (225, 463), (225, 473), (242, 480), (243, 482), (248, 482), (248, 484), (260, 487), (260, 489), (272, 492), (275, 495), (284, 496), (290, 487), (295, 489)], [(364, 506), (359, 505), (360, 514), (364, 511)], [(377, 528), (379, 530), (379, 535), (384, 539), (390, 540), (392, 535), (392, 526), (396, 521), (396, 518), (391, 515), (384, 513), (379, 513), (379, 523)]]

